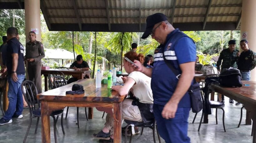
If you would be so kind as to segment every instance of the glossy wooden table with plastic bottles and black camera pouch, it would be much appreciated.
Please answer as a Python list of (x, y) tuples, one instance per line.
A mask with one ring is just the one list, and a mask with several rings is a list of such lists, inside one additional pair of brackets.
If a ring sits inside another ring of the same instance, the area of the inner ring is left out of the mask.
[(50, 114), (52, 111), (63, 109), (66, 106), (79, 106), (113, 108), (114, 143), (121, 143), (121, 102), (126, 96), (120, 96), (118, 92), (111, 91), (107, 88), (107, 84), (101, 84), (101, 88), (96, 88), (95, 79), (82, 79), (75, 83), (84, 86), (84, 94), (66, 95), (66, 91), (71, 90), (72, 87), (68, 84), (37, 95), (41, 101), (42, 142), (51, 142)]

